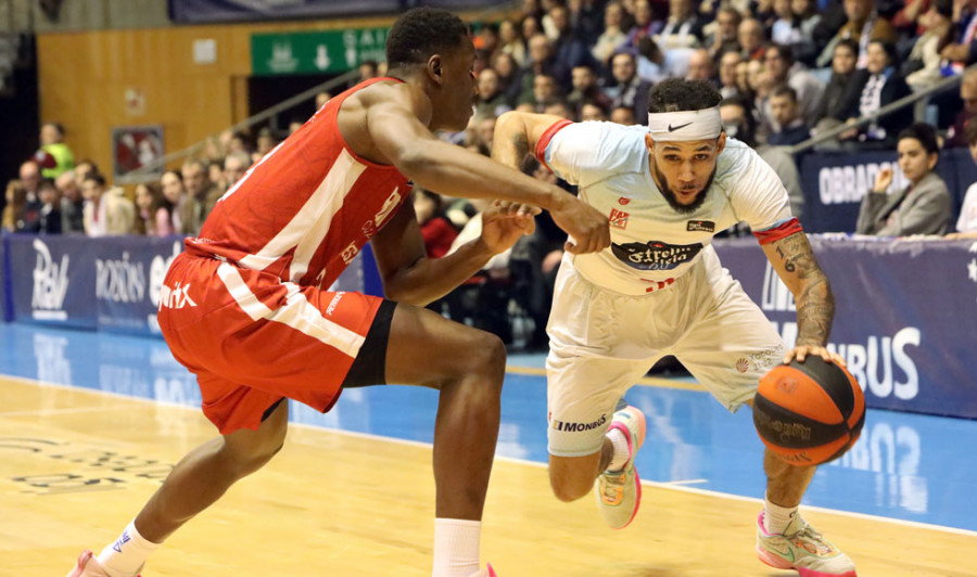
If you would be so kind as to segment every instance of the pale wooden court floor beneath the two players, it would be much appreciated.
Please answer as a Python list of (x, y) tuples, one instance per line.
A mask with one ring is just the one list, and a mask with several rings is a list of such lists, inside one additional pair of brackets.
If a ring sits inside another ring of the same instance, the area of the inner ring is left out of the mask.
[[(199, 411), (0, 377), (0, 576), (63, 576), (115, 539), (169, 464), (212, 437)], [(549, 493), (542, 466), (499, 460), (483, 560), (500, 577), (795, 575), (754, 553), (759, 502), (645, 486), (622, 531), (591, 498)], [(430, 448), (293, 426), (265, 470), (177, 533), (145, 577), (430, 575)], [(977, 576), (977, 537), (863, 516), (805, 517), (862, 577)]]

